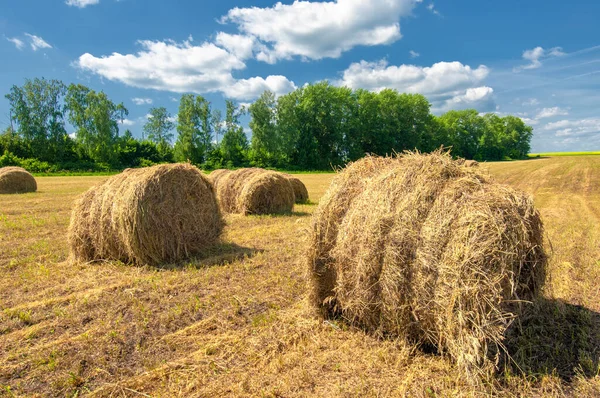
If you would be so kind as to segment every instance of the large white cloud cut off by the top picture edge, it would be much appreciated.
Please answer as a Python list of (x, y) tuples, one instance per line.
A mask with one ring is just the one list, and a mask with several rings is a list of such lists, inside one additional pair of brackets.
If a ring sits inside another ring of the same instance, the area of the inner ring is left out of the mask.
[[(270, 8), (233, 8), (221, 22), (232, 22), (247, 40), (257, 39), (256, 58), (274, 63), (300, 56), (337, 58), (356, 46), (390, 44), (400, 39), (400, 17), (416, 0), (335, 0), (276, 3)], [(244, 47), (245, 48), (245, 47)], [(233, 51), (233, 49), (232, 49)]]

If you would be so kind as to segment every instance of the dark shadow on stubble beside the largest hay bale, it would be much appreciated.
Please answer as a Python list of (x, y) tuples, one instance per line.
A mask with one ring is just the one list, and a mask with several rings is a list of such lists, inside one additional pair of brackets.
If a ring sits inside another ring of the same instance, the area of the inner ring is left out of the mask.
[(506, 333), (513, 373), (594, 377), (600, 371), (600, 313), (562, 300), (540, 298)]

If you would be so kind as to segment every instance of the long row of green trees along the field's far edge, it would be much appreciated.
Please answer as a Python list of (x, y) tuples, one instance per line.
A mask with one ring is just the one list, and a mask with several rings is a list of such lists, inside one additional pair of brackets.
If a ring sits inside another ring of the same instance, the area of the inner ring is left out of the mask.
[[(477, 111), (431, 114), (420, 94), (351, 90), (327, 82), (280, 97), (264, 92), (248, 109), (225, 102), (225, 115), (201, 95), (183, 94), (177, 115), (151, 108), (141, 139), (121, 133), (129, 112), (81, 84), (36, 78), (6, 94), (10, 125), (0, 135), (0, 167), (30, 171), (115, 170), (165, 162), (206, 169), (261, 166), (327, 170), (365, 154), (451, 147), (477, 160), (527, 156), (532, 128), (514, 116)], [(250, 116), (248, 141), (240, 118)], [(66, 123), (75, 129), (70, 136)]]

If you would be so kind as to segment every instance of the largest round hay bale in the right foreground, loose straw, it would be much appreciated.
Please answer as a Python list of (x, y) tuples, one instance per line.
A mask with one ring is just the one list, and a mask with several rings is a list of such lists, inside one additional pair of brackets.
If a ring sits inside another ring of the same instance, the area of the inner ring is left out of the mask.
[(309, 237), (311, 298), (381, 335), (435, 346), (473, 375), (545, 280), (531, 198), (442, 152), (339, 173)]

